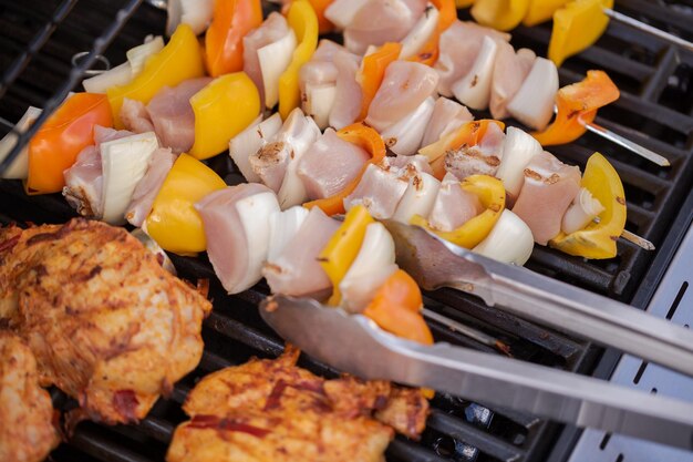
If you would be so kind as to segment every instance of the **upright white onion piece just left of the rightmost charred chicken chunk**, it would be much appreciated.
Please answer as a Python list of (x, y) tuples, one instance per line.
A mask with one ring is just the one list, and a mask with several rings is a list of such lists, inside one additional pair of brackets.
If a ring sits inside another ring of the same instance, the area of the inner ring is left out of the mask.
[(508, 126), (496, 177), (503, 181), (505, 189), (511, 197), (517, 198), (523, 187), (525, 167), (531, 157), (541, 154), (542, 151), (541, 145), (534, 136), (520, 129)]

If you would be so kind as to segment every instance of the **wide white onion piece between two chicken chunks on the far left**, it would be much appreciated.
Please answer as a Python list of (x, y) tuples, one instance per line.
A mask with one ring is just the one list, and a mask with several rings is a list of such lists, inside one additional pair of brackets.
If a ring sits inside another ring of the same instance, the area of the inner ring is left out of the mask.
[(137, 183), (149, 166), (158, 142), (154, 132), (141, 133), (101, 144), (103, 168), (103, 220), (111, 225), (125, 223), (125, 212)]

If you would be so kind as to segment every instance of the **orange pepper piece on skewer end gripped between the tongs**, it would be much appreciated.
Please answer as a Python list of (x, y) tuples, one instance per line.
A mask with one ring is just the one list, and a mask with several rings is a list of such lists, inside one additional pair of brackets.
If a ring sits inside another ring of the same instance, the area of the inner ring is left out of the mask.
[(423, 300), (416, 281), (397, 269), (363, 310), (382, 329), (418, 343), (432, 345), (431, 329), (421, 315)]

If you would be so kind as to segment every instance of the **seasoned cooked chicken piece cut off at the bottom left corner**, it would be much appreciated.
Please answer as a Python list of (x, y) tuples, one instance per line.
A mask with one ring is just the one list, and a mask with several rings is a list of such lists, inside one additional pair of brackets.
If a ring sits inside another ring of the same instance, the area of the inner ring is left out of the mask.
[(19, 337), (0, 331), (0, 460), (39, 462), (58, 445), (51, 397)]

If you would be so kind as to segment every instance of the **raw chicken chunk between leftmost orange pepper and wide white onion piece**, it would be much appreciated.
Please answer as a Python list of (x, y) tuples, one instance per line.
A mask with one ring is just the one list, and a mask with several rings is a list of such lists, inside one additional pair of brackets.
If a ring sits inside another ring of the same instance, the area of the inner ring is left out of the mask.
[(87, 218), (103, 217), (103, 170), (101, 144), (133, 135), (127, 130), (94, 126), (94, 146), (86, 146), (63, 175), (63, 196), (77, 213)]

